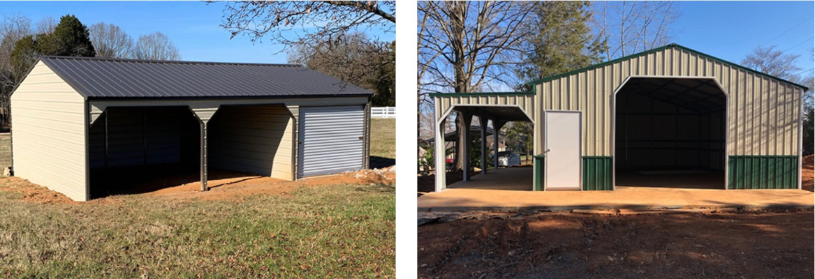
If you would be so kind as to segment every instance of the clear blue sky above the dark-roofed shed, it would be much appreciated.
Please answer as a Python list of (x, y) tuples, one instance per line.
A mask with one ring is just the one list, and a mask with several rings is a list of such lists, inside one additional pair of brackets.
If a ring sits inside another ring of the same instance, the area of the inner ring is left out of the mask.
[[(104, 21), (124, 29), (134, 40), (139, 35), (160, 31), (173, 40), (183, 60), (246, 63), (286, 63), (282, 46), (271, 41), (252, 43), (249, 37), (231, 34), (218, 27), (223, 2), (0, 2), (0, 15), (20, 14), (34, 23), (45, 16), (56, 20), (76, 15), (90, 26)], [(373, 35), (373, 34), (372, 34)], [(391, 41), (393, 33), (377, 33)]]

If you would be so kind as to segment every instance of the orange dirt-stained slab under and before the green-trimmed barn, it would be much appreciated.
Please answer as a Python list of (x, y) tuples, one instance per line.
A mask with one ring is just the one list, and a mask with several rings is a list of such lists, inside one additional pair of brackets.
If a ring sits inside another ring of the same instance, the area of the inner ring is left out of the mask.
[[(419, 211), (569, 211), (581, 209), (813, 208), (806, 190), (711, 190), (617, 186), (615, 191), (531, 189), (531, 168), (505, 168), (418, 198)], [(480, 178), (480, 179), (479, 179)]]

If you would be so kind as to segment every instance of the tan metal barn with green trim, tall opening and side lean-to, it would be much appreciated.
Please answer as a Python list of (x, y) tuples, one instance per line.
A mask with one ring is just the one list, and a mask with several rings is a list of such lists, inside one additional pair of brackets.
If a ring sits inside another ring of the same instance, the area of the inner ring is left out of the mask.
[[(534, 91), (432, 94), (436, 141), (451, 111), (465, 125), (472, 116), (499, 129), (533, 123), (529, 190), (687, 177), (700, 188), (800, 189), (803, 85), (676, 44), (528, 85)], [(446, 171), (443, 162), (437, 172)], [(436, 190), (445, 187), (436, 176)]]

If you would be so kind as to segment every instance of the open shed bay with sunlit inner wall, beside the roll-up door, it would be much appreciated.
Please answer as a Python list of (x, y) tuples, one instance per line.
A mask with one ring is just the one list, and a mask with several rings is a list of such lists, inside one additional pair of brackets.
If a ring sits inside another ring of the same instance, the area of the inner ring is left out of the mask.
[(209, 121), (209, 165), (293, 180), (293, 120), (276, 107), (221, 107)]

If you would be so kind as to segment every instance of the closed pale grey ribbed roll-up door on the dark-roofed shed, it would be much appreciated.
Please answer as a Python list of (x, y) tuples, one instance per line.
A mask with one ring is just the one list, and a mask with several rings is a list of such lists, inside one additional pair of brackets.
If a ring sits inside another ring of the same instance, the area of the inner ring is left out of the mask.
[(300, 107), (297, 177), (363, 168), (363, 106)]

